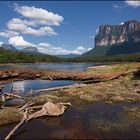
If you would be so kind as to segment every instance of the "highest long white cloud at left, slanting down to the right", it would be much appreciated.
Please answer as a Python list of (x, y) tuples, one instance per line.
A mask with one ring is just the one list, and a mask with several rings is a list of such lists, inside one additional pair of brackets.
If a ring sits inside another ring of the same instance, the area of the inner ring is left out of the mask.
[(26, 18), (32, 19), (34, 22), (50, 26), (59, 26), (64, 19), (58, 14), (48, 12), (46, 9), (36, 8), (34, 6), (19, 6), (18, 4), (15, 4), (15, 11)]

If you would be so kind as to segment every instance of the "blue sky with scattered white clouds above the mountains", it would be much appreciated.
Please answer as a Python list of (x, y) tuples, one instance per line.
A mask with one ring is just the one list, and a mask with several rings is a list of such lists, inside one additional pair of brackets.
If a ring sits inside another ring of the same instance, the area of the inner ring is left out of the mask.
[(82, 54), (100, 25), (140, 21), (140, 1), (0, 1), (0, 44), (45, 54)]

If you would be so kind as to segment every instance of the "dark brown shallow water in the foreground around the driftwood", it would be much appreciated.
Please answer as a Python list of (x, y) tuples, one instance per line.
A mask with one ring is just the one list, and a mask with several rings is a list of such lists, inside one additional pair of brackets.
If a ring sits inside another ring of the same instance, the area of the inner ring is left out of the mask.
[[(45, 117), (32, 120), (19, 129), (14, 139), (139, 139), (140, 120), (131, 119), (123, 111), (121, 103), (108, 105), (95, 103), (69, 108), (60, 117)], [(16, 124), (0, 127), (3, 139)]]

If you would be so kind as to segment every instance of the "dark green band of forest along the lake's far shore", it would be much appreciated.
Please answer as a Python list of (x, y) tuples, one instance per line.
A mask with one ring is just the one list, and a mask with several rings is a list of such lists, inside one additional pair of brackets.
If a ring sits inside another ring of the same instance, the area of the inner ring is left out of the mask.
[(80, 56), (76, 58), (58, 58), (52, 55), (31, 54), (0, 48), (0, 63), (35, 63), (35, 62), (140, 62), (140, 53), (103, 57)]

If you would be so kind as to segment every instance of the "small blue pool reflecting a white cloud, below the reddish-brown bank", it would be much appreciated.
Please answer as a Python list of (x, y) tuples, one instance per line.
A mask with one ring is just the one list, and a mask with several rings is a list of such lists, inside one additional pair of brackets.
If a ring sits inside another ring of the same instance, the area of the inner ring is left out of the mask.
[(76, 83), (72, 80), (23, 80), (4, 84), (4, 92), (15, 92), (18, 95), (25, 96), (31, 89), (47, 89), (51, 87), (71, 85)]

